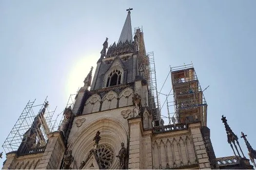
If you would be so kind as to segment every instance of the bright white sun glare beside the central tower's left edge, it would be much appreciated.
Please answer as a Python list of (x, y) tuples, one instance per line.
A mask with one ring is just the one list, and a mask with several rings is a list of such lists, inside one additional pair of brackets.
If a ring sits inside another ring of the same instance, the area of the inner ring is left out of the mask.
[(93, 53), (90, 55), (84, 55), (79, 57), (79, 60), (72, 63), (72, 67), (70, 68), (68, 79), (65, 87), (66, 95), (76, 94), (80, 87), (82, 87), (84, 78), (90, 72), (91, 67), (93, 67), (92, 76), (94, 76), (94, 72), (97, 66), (98, 60), (97, 53)]

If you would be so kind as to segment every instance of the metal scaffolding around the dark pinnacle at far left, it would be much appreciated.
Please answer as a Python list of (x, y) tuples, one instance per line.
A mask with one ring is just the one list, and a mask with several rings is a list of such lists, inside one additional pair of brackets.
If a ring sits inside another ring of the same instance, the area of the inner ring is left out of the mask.
[[(70, 95), (67, 107), (74, 105), (75, 95)], [(19, 119), (5, 139), (2, 147), (5, 153), (17, 151), (19, 155), (43, 152), (46, 148), (48, 134), (58, 131), (63, 119), (51, 111), (47, 97), (43, 103), (36, 105), (28, 101)], [(38, 111), (38, 113), (37, 113)], [(63, 112), (61, 112), (63, 113)]]

